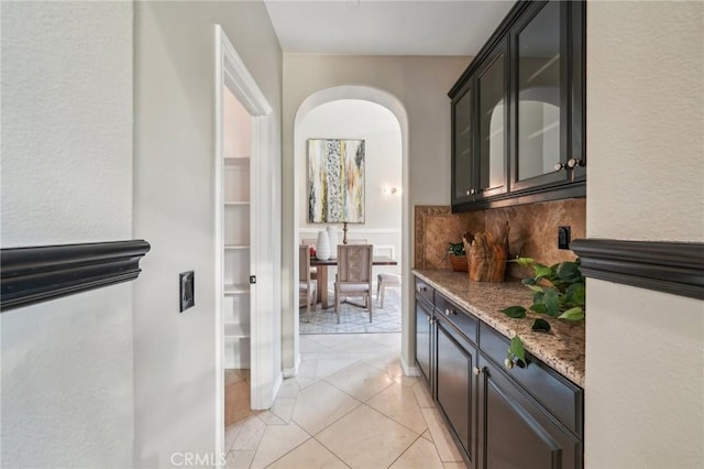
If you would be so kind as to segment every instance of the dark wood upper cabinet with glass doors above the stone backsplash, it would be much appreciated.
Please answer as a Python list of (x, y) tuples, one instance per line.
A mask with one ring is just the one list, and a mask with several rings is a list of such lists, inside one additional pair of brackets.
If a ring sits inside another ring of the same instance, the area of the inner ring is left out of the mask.
[(453, 211), (585, 196), (584, 20), (516, 3), (452, 87)]

